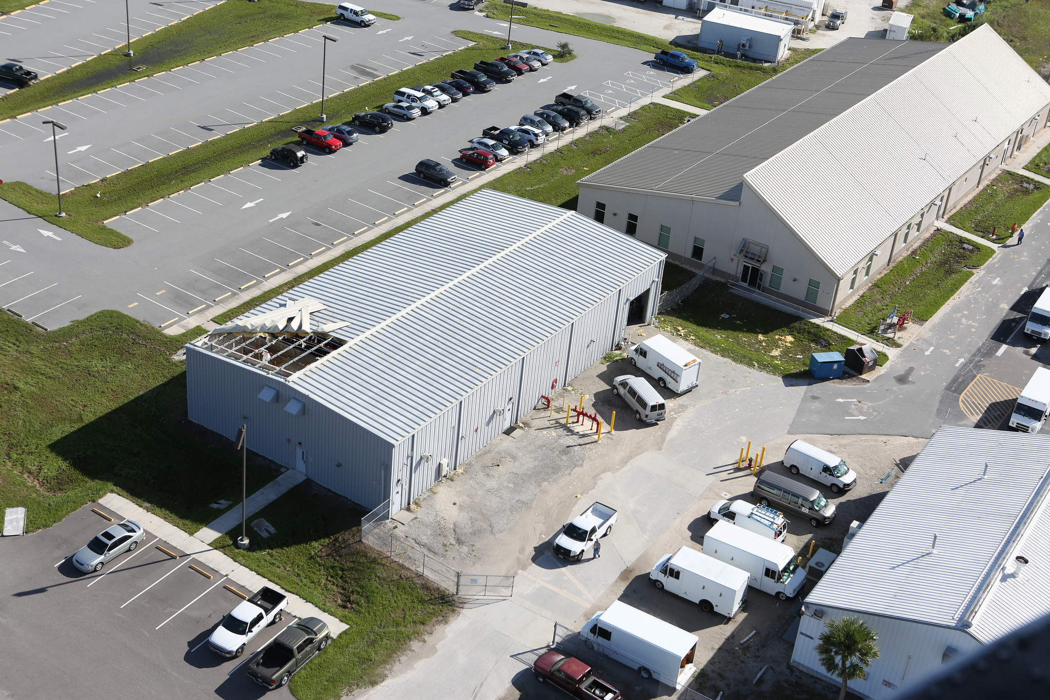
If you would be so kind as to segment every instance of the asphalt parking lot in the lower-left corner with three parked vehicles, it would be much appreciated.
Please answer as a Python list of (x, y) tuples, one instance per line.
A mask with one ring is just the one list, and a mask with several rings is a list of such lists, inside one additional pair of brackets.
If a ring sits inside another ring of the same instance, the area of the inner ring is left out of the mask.
[(260, 632), (240, 659), (218, 657), (205, 642), (242, 601), (226, 586), (252, 592), (148, 531), (138, 549), (101, 572), (80, 572), (67, 557), (112, 525), (92, 508), (123, 519), (89, 504), (51, 528), (0, 540), (5, 697), (291, 697), (287, 687), (267, 694), (243, 665), (294, 621), (291, 615)]

